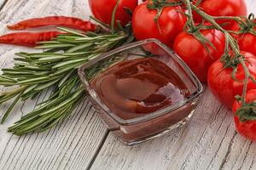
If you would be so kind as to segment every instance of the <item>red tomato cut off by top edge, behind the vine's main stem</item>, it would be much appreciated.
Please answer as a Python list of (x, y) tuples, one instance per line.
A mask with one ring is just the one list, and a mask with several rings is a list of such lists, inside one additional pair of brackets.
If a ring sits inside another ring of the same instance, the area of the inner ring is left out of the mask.
[[(247, 16), (247, 5), (244, 0), (203, 0), (199, 7), (212, 16)], [(201, 22), (201, 16), (195, 14), (195, 21)], [(235, 24), (233, 20), (218, 20), (218, 24), (230, 23), (225, 29)]]

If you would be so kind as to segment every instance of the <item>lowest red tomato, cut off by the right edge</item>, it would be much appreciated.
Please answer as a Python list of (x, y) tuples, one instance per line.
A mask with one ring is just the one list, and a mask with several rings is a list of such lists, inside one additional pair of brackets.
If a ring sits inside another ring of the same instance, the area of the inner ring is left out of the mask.
[[(256, 101), (256, 89), (247, 92), (246, 101), (247, 103)], [(236, 111), (239, 108), (241, 108), (241, 102), (235, 101), (233, 105), (233, 113), (237, 132), (247, 139), (256, 141), (256, 121), (241, 122), (239, 117), (236, 116)]]

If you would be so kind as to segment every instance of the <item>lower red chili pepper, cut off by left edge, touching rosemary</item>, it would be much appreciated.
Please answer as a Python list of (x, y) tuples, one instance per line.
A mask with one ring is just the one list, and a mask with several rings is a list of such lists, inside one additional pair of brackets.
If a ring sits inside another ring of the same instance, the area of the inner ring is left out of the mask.
[(59, 31), (16, 32), (1, 36), (0, 43), (35, 47), (37, 45), (36, 42), (49, 41), (59, 34), (61, 34)]

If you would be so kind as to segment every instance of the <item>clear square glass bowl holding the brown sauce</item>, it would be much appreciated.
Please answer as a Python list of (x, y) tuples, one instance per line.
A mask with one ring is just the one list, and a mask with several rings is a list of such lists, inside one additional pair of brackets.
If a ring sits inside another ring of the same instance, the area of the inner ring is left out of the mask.
[[(96, 91), (90, 87), (91, 79), (108, 68), (109, 63), (114, 65), (120, 60), (138, 57), (159, 59), (171, 67), (187, 86), (189, 96), (159, 111), (128, 120), (110, 111)], [(90, 101), (96, 109), (96, 113), (102, 118), (108, 129), (126, 145), (140, 144), (188, 122), (193, 116), (203, 91), (201, 82), (183, 60), (156, 39), (134, 42), (102, 54), (82, 65), (79, 68), (79, 77), (84, 84), (85, 90), (90, 94)]]

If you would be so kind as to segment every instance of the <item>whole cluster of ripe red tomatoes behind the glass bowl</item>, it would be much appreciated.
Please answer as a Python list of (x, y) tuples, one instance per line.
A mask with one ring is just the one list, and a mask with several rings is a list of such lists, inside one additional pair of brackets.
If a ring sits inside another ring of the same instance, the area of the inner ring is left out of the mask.
[[(110, 24), (112, 11), (117, 0), (89, 0), (90, 8), (97, 19)], [(212, 94), (233, 112), (242, 106), (236, 101), (236, 95), (242, 95), (246, 73), (241, 64), (236, 64), (236, 74), (233, 66), (226, 66), (222, 56), (226, 53), (226, 35), (223, 31), (217, 30), (202, 19), (202, 16), (193, 11), (195, 27), (197, 33), (205, 37), (207, 43), (201, 42), (195, 36), (195, 32), (189, 30), (186, 24), (189, 18), (186, 13), (187, 8), (182, 3), (180, 5), (167, 5), (157, 8), (154, 4), (158, 1), (146, 0), (137, 5), (136, 0), (121, 0), (116, 12), (117, 20), (124, 26), (128, 21), (132, 21), (133, 34), (137, 40), (146, 38), (157, 38), (174, 51), (189, 65), (201, 82), (207, 82)], [(167, 0), (167, 3), (180, 3), (179, 0)], [(108, 5), (107, 5), (108, 4)], [(250, 72), (251, 79), (247, 82), (247, 102), (256, 100), (256, 34), (248, 31), (246, 26), (241, 26), (237, 20), (224, 16), (247, 16), (247, 7), (244, 0), (202, 0), (193, 1), (193, 4), (206, 14), (214, 16), (214, 20), (225, 30), (232, 32), (241, 49), (241, 55), (245, 57), (246, 66)], [(132, 18), (125, 14), (125, 8), (133, 11)], [(191, 16), (190, 16), (191, 17)], [(252, 20), (251, 23), (256, 21)], [(207, 29), (201, 29), (201, 27)], [(234, 33), (235, 32), (235, 33)], [(238, 32), (238, 33), (236, 33)], [(230, 51), (232, 58), (233, 52)], [(234, 64), (235, 65), (235, 64)], [(236, 128), (239, 133), (248, 139), (256, 140), (256, 121), (242, 122), (235, 114)]]

